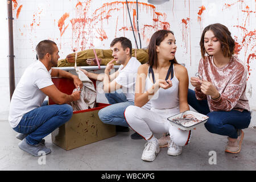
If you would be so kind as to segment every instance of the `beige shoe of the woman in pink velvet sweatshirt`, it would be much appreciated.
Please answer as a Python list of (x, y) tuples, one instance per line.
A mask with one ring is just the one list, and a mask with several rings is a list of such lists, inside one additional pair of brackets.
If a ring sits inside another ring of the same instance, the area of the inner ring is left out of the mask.
[(237, 138), (228, 137), (228, 145), (226, 146), (225, 152), (236, 154), (241, 151), (242, 140), (245, 134), (243, 133), (242, 130), (240, 131), (241, 131), (241, 134)]

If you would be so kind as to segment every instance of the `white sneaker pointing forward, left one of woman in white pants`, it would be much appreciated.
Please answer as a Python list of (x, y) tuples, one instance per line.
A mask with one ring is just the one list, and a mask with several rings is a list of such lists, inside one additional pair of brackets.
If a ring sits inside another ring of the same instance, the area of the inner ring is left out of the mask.
[(159, 144), (157, 142), (147, 142), (145, 144), (145, 149), (143, 150), (141, 159), (144, 161), (151, 162), (155, 160), (156, 155), (160, 151)]

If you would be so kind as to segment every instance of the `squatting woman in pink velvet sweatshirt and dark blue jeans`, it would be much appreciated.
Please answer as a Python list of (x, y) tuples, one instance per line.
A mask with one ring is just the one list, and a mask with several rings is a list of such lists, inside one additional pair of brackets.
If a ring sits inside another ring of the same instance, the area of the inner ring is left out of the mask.
[[(228, 136), (225, 152), (238, 153), (251, 115), (245, 96), (247, 69), (233, 56), (235, 42), (220, 23), (204, 28), (200, 40), (202, 59), (198, 77), (191, 77), (195, 91), (188, 90), (188, 104), (208, 115), (210, 133)], [(207, 53), (207, 55), (205, 54)]]

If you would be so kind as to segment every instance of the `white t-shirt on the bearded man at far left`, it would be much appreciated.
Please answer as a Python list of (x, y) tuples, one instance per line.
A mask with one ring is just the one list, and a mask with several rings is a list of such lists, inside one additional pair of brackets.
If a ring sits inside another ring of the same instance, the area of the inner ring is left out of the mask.
[(9, 113), (11, 127), (16, 127), (24, 114), (43, 104), (46, 94), (40, 89), (53, 85), (51, 71), (50, 69), (48, 72), (39, 60), (24, 71), (11, 98)]

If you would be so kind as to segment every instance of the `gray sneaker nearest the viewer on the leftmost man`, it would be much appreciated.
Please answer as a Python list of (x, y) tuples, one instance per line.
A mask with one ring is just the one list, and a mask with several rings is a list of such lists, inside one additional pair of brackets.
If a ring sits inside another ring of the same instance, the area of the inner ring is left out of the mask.
[(51, 153), (51, 149), (47, 148), (44, 144), (38, 143), (35, 145), (31, 145), (27, 143), (26, 138), (19, 142), (18, 146), (21, 150), (28, 152), (33, 156), (41, 156)]

